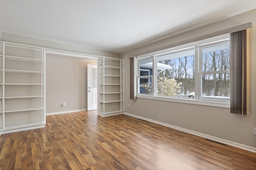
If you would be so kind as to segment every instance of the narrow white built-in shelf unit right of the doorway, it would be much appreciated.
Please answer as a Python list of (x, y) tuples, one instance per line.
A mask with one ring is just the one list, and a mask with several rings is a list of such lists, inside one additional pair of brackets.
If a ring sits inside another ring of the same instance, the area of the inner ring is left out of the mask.
[(122, 59), (100, 59), (100, 114), (123, 112)]

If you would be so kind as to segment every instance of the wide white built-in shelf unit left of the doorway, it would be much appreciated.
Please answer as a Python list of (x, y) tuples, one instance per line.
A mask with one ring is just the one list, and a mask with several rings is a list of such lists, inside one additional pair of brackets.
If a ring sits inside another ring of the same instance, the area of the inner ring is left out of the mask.
[(43, 49), (0, 41), (0, 135), (44, 127)]

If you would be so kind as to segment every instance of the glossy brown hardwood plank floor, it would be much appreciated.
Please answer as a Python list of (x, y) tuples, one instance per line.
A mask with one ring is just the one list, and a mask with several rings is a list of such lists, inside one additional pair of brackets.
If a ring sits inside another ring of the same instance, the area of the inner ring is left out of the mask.
[(49, 115), (0, 136), (0, 170), (256, 170), (256, 153), (127, 115)]

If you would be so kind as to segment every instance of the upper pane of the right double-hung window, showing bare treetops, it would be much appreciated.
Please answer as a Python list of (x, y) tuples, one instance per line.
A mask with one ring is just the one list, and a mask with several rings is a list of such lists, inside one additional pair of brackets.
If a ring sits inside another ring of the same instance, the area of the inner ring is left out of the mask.
[(202, 72), (229, 70), (230, 43), (202, 48)]

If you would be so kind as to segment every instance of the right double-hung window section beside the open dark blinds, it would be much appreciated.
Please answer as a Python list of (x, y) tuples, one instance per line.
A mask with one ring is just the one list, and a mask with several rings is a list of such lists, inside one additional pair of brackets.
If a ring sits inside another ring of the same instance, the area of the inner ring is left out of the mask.
[(202, 99), (230, 100), (230, 43), (202, 47)]

